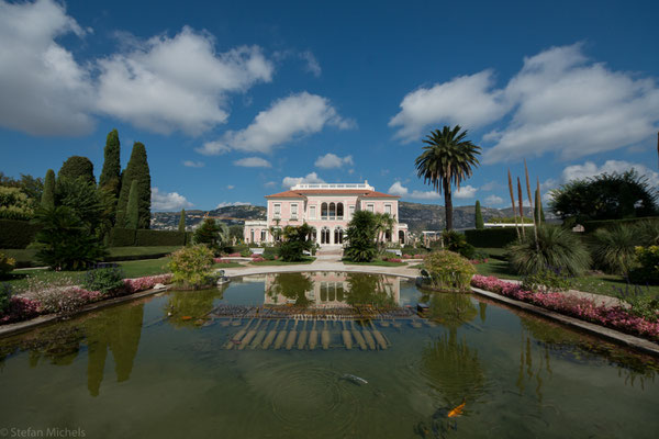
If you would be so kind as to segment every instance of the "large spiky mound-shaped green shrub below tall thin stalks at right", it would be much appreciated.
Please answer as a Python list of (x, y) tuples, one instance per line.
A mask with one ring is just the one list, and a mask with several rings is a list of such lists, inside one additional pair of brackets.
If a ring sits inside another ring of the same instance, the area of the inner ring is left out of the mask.
[[(530, 232), (530, 230), (529, 230)], [(533, 274), (547, 268), (560, 270), (568, 275), (579, 275), (590, 267), (590, 254), (571, 230), (543, 225), (534, 233), (509, 246), (511, 268), (521, 274)]]

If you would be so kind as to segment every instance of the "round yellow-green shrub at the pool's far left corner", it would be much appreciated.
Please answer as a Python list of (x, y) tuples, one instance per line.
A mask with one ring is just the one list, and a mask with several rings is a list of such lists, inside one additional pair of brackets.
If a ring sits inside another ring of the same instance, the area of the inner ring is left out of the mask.
[(213, 251), (205, 245), (183, 247), (175, 251), (167, 264), (174, 282), (194, 289), (204, 285), (212, 274), (213, 256)]

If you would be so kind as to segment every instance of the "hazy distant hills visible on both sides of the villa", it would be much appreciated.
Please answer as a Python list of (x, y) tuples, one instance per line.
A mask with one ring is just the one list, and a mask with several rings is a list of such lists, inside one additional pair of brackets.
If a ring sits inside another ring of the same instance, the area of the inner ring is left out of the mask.
[[(513, 216), (512, 207), (492, 209), (481, 207), (485, 223), (490, 218)], [(206, 211), (186, 211), (186, 225), (188, 229), (196, 228), (203, 219)], [(152, 228), (164, 230), (176, 230), (178, 228), (180, 212), (154, 212), (152, 213)], [(399, 203), (400, 222), (406, 223), (410, 230), (420, 233), (422, 230), (442, 230), (446, 226), (444, 206), (437, 204)], [(524, 207), (524, 215), (530, 217), (530, 209)], [(547, 219), (551, 218), (549, 212), (545, 211)], [(255, 205), (237, 205), (215, 209), (209, 212), (209, 216), (220, 218), (228, 225), (244, 224), (245, 221), (266, 219), (266, 207)], [(454, 207), (454, 227), (473, 228), (476, 226), (476, 207), (473, 205)]]

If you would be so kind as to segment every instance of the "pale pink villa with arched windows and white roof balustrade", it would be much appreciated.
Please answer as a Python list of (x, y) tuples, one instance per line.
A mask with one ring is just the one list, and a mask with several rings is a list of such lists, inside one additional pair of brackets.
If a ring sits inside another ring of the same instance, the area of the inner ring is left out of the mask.
[(399, 196), (377, 192), (364, 183), (297, 184), (286, 192), (266, 195), (266, 221), (245, 222), (245, 243), (272, 243), (270, 227), (299, 226), (314, 228), (313, 238), (322, 247), (343, 246), (344, 234), (355, 211), (390, 214), (395, 224), (386, 240), (405, 244), (407, 225), (398, 222)]

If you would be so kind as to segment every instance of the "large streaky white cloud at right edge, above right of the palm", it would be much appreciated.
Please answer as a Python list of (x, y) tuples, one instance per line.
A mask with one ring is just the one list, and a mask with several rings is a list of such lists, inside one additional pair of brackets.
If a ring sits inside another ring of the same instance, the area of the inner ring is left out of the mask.
[(515, 111), (503, 131), (487, 137), (496, 144), (485, 162), (551, 151), (573, 159), (633, 146), (659, 122), (655, 80), (590, 63), (580, 44), (525, 58), (504, 93)]

